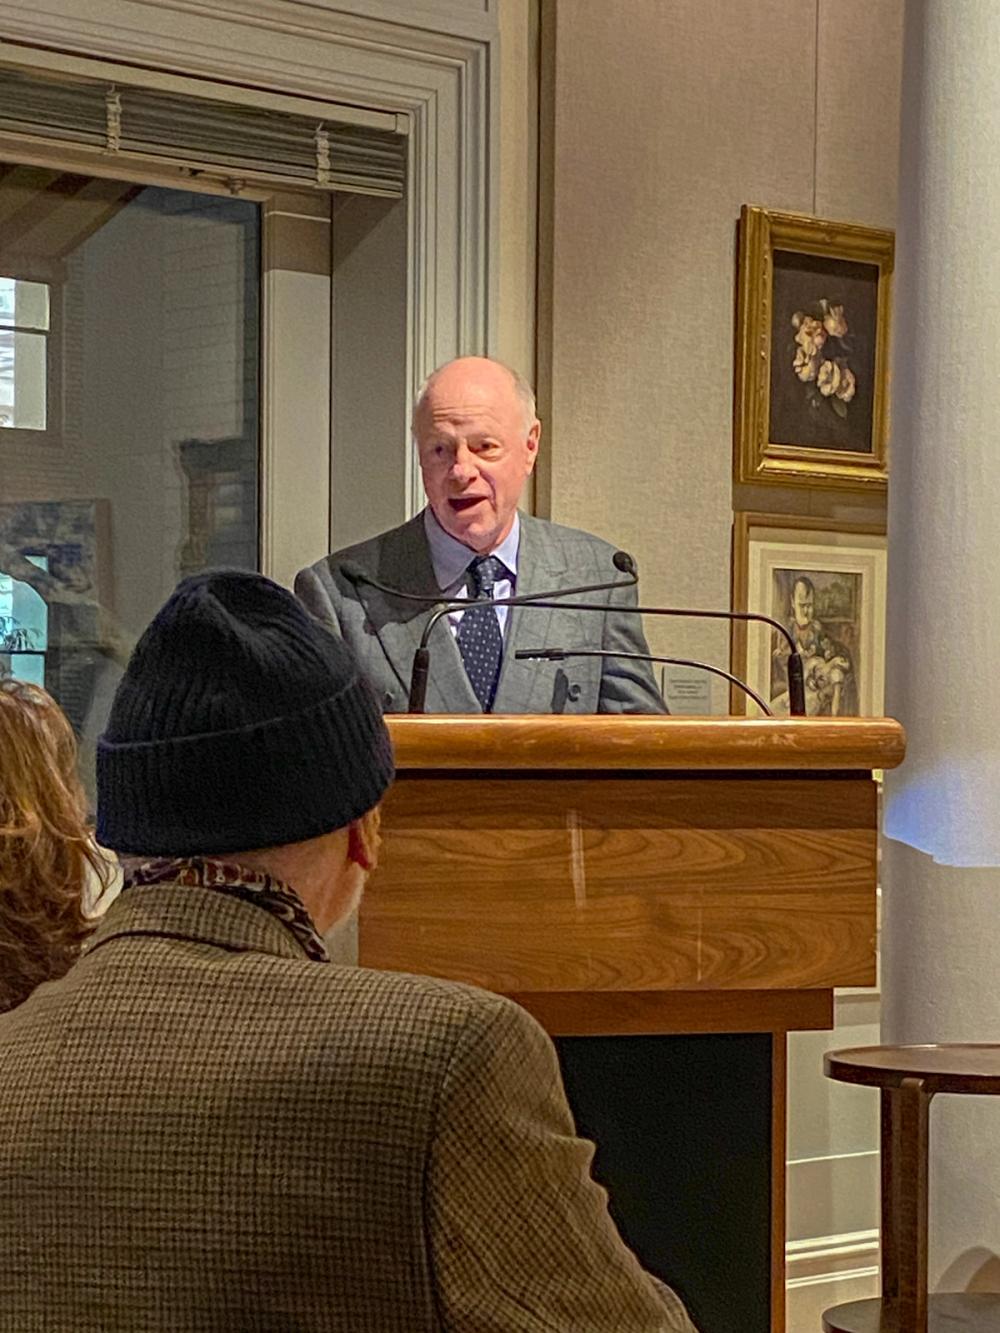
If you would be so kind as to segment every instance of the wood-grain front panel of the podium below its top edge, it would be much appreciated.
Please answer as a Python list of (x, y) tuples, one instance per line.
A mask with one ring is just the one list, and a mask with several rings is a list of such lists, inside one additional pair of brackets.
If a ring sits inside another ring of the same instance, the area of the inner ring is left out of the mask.
[(869, 777), (405, 769), (363, 961), (503, 993), (875, 981)]

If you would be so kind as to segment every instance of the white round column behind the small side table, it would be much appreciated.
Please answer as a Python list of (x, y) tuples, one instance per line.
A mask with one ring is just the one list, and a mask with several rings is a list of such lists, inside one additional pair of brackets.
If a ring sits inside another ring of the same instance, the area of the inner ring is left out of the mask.
[[(905, 17), (883, 1036), (1000, 1041), (1000, 4)], [(939, 1098), (931, 1156), (932, 1286), (1000, 1289), (1000, 1097)]]

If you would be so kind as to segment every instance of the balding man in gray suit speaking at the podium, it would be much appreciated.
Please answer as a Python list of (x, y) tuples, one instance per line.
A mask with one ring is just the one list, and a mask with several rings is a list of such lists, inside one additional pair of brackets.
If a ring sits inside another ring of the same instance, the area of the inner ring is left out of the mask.
[[(541, 424), (529, 385), (487, 357), (436, 371), (413, 411), (427, 507), (409, 523), (299, 572), (301, 601), (351, 644), (387, 712), (405, 712), (415, 651), (436, 603), (503, 601), (556, 589), (556, 608), (457, 608), (431, 631), (427, 710), (663, 713), (648, 663), (628, 657), (519, 660), (521, 649), (648, 653), (635, 583), (615, 548), (517, 509)], [(619, 587), (587, 593), (573, 588)], [(565, 592), (564, 592), (565, 591)]]

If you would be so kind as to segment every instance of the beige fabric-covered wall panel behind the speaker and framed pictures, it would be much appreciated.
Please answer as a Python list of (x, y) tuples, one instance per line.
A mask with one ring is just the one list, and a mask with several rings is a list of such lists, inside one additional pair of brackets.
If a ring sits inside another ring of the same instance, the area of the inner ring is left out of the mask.
[[(740, 205), (893, 225), (901, 15), (903, 0), (547, 13), (540, 508), (633, 551), (645, 601), (729, 604)], [(716, 627), (660, 621), (649, 637), (728, 659)]]

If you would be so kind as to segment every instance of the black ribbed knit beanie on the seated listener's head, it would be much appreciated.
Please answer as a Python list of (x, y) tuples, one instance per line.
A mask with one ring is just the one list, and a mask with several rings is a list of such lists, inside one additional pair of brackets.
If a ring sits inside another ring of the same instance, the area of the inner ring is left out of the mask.
[(97, 741), (97, 841), (152, 856), (301, 842), (391, 781), (347, 644), (269, 579), (193, 575), (140, 639)]

